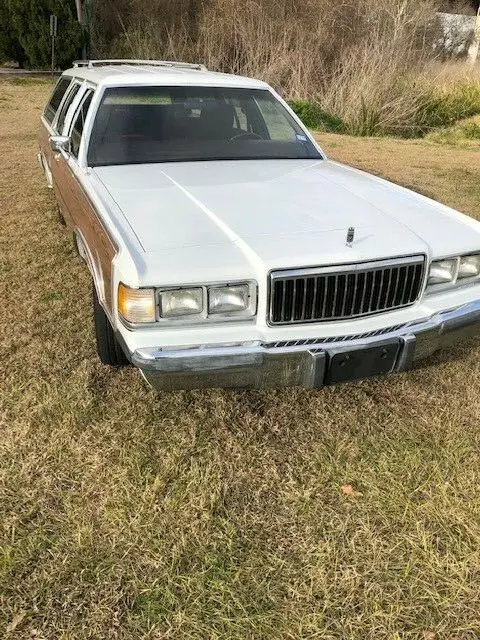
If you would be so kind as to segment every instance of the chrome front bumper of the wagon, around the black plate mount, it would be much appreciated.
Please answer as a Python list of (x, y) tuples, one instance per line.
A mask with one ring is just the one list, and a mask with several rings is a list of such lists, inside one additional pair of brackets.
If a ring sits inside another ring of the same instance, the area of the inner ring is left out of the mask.
[[(369, 334), (275, 343), (138, 349), (130, 359), (159, 391), (207, 387), (322, 387), (328, 384), (330, 363), (337, 354), (361, 355), (357, 350), (382, 347), (398, 339), (398, 351), (386, 371), (393, 373), (405, 371), (438, 349), (479, 332), (480, 300), (475, 300), (419, 322)], [(368, 375), (367, 369), (358, 378)]]

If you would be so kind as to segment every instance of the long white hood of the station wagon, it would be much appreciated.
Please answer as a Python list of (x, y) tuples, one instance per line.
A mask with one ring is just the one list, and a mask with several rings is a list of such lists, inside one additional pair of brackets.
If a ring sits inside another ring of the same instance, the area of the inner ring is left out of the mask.
[(191, 248), (198, 255), (218, 247), (224, 255), (220, 245), (234, 244), (271, 269), (480, 247), (475, 221), (328, 160), (122, 165), (93, 173), (146, 253)]

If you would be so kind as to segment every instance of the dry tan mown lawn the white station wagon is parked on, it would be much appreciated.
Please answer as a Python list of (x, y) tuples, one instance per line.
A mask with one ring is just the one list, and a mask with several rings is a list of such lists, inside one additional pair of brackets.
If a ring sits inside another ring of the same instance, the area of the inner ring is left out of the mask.
[[(156, 396), (102, 367), (35, 163), (46, 94), (0, 84), (0, 634), (479, 638), (478, 346), (288, 393)], [(480, 218), (478, 148), (321, 141)]]

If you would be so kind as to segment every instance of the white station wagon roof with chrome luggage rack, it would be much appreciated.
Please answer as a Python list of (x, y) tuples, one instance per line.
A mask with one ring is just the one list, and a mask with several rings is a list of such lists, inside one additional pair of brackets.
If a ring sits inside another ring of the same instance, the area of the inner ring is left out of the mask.
[(64, 71), (63, 75), (102, 86), (206, 85), (268, 88), (261, 80), (208, 71), (200, 64), (165, 60), (82, 60), (74, 62), (73, 67)]

